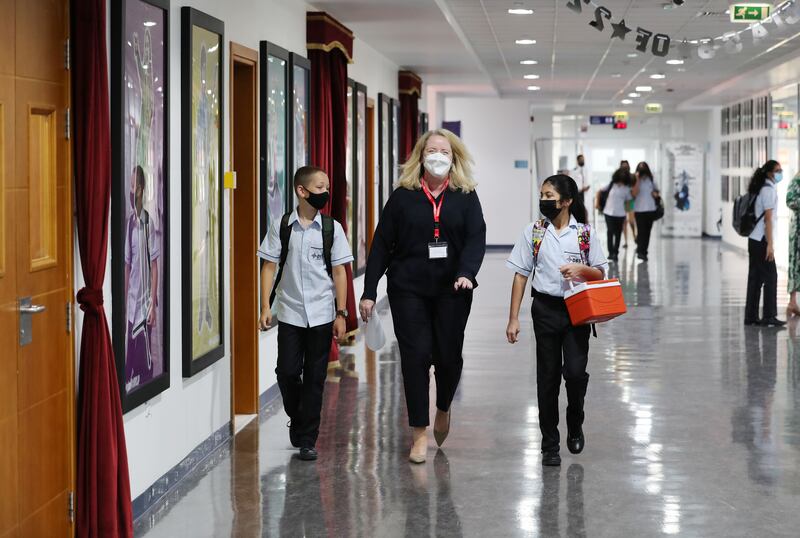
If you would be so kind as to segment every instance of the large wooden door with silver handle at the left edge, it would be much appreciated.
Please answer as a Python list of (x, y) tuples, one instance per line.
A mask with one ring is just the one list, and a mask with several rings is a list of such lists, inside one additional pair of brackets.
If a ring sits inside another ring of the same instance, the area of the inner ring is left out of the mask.
[(72, 532), (68, 23), (64, 0), (0, 2), (0, 536)]

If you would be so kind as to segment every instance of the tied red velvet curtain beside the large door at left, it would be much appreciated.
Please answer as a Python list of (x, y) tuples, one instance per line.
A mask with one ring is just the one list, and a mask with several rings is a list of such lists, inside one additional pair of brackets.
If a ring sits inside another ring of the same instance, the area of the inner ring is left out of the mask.
[(86, 287), (78, 392), (75, 533), (132, 537), (128, 455), (114, 350), (103, 309), (111, 191), (106, 0), (73, 0), (75, 204)]

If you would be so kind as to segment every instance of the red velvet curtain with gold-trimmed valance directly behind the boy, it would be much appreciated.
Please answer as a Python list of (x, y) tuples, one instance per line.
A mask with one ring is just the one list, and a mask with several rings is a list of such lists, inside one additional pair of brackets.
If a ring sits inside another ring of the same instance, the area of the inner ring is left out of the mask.
[[(309, 114), (311, 164), (328, 172), (331, 200), (323, 209), (347, 232), (347, 64), (353, 35), (325, 13), (307, 15), (308, 57), (311, 60)], [(347, 271), (347, 330), (358, 329), (353, 268)], [(331, 362), (338, 354), (331, 353)]]

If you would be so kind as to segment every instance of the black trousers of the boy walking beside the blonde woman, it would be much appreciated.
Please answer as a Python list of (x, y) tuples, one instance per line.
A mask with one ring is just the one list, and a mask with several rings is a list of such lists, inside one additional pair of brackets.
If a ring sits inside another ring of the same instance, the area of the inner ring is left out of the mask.
[(275, 373), (283, 408), (301, 446), (313, 447), (317, 442), (332, 338), (333, 323), (306, 328), (278, 324)]

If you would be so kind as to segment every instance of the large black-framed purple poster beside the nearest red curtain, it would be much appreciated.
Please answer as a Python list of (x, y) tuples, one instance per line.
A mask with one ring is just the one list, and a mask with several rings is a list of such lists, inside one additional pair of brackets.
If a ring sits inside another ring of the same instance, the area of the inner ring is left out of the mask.
[(169, 0), (111, 4), (111, 286), (122, 411), (169, 388)]

